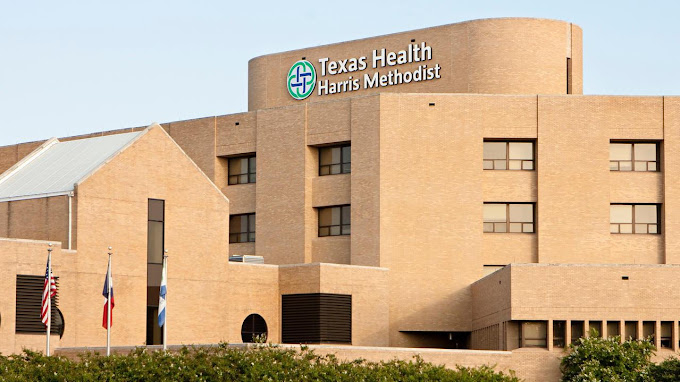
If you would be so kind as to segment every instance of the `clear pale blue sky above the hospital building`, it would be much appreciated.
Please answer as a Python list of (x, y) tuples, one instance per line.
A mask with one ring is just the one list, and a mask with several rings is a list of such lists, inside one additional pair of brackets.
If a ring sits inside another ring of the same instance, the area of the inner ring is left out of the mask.
[(0, 0), (0, 145), (247, 109), (252, 57), (489, 17), (583, 28), (584, 93), (680, 94), (676, 1)]

